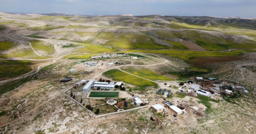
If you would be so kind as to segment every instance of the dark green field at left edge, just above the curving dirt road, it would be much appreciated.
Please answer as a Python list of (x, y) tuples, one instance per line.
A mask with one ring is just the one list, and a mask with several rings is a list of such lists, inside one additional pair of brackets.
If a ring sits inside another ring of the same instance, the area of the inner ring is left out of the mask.
[(31, 67), (25, 66), (25, 65), (0, 66), (0, 78), (18, 77), (31, 70), (32, 70)]

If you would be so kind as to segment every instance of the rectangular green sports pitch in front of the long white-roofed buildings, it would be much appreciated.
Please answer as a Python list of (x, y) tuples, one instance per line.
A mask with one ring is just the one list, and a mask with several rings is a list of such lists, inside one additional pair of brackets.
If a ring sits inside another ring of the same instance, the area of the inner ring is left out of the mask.
[(119, 92), (91, 92), (89, 97), (118, 98), (119, 97)]

